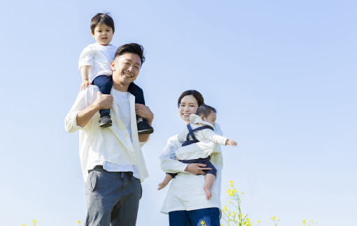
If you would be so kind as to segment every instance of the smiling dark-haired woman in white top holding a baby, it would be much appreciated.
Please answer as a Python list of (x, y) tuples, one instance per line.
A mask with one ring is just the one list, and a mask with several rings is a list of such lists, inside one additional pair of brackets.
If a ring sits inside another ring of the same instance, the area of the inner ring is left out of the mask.
[[(195, 90), (184, 91), (178, 100), (179, 115), (186, 124), (190, 123), (190, 114), (195, 114), (197, 108), (204, 103), (201, 93)], [(222, 135), (216, 123), (215, 133)], [(190, 145), (199, 145), (199, 143)], [(161, 212), (169, 213), (170, 226), (201, 226), (204, 221), (207, 226), (220, 225), (221, 215), (221, 179), (223, 158), (221, 146), (214, 145), (215, 152), (211, 154), (211, 163), (217, 169), (216, 181), (211, 188), (212, 197), (207, 200), (203, 190), (206, 165), (200, 163), (181, 163), (175, 160), (175, 152), (181, 146), (177, 135), (170, 137), (167, 146), (160, 156), (161, 168), (165, 172), (179, 173), (172, 180)]]

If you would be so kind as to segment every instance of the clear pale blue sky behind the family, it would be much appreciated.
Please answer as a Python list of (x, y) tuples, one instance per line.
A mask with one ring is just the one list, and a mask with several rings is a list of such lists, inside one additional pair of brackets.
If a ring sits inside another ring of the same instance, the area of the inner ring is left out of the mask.
[[(155, 114), (144, 146), (137, 225), (168, 225), (158, 156), (185, 126), (176, 100), (197, 89), (236, 148), (223, 147), (222, 204), (235, 181), (260, 225), (356, 225), (356, 1), (1, 2), (0, 225), (85, 221), (78, 133), (64, 117), (79, 90), (90, 19), (108, 11), (113, 45), (140, 43), (137, 84)], [(10, 83), (8, 83), (8, 82)]]

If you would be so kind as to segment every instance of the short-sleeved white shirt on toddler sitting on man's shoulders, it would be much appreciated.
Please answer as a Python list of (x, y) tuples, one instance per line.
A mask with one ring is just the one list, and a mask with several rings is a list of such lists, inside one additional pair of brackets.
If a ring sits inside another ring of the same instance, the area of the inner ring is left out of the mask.
[(88, 80), (93, 82), (99, 75), (112, 75), (111, 61), (116, 55), (118, 47), (114, 45), (90, 44), (84, 48), (79, 57), (78, 69), (83, 66), (91, 66), (88, 73)]

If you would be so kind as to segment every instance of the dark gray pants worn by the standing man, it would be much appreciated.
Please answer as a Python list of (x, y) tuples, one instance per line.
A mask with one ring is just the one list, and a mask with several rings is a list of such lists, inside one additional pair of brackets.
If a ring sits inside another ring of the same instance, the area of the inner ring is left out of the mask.
[(85, 191), (85, 226), (136, 225), (142, 189), (132, 172), (107, 172), (97, 166), (87, 177)]

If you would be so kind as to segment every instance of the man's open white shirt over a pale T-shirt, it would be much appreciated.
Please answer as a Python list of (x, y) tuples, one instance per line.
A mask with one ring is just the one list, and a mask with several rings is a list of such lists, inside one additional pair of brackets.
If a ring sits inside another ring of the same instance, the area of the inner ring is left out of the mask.
[(88, 170), (96, 165), (103, 165), (104, 169), (110, 172), (131, 171), (142, 182), (148, 177), (141, 152), (141, 146), (146, 142), (139, 142), (135, 97), (131, 93), (111, 89), (113, 126), (99, 127), (99, 113), (94, 114), (83, 128), (77, 125), (78, 112), (97, 100), (98, 91), (97, 86), (88, 86), (87, 89), (80, 91), (65, 120), (67, 132), (80, 130), (79, 154), (83, 179), (87, 180)]

